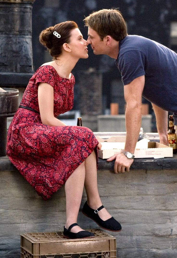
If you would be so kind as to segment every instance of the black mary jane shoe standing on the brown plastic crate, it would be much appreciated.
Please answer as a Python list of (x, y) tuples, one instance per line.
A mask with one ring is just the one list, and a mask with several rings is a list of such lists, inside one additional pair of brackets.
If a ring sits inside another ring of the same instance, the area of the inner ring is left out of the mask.
[(95, 237), (94, 233), (89, 232), (89, 231), (85, 231), (85, 230), (79, 231), (79, 232), (77, 232), (77, 233), (70, 232), (70, 230), (71, 230), (74, 226), (78, 226), (78, 224), (77, 224), (77, 223), (73, 223), (72, 225), (69, 226), (68, 229), (66, 229), (66, 228), (64, 227), (64, 232), (63, 232), (63, 237), (64, 237), (64, 238), (72, 238), (72, 239), (75, 239), (75, 238), (91, 238), (91, 237)]

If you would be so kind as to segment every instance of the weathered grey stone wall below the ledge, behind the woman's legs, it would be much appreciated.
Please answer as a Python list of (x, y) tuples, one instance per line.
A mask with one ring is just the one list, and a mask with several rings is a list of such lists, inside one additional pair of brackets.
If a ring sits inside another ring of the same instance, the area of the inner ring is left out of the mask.
[[(122, 224), (117, 239), (119, 258), (177, 257), (176, 170), (98, 171), (103, 205)], [(20, 234), (63, 231), (65, 193), (61, 188), (44, 201), (18, 171), (0, 171), (0, 257), (20, 257)], [(84, 192), (81, 208), (86, 200)], [(98, 225), (79, 212), (83, 228)]]

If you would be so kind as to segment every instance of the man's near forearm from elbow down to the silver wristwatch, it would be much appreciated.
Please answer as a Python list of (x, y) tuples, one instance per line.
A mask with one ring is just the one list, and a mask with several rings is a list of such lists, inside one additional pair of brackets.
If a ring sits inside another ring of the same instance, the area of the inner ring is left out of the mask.
[(125, 118), (127, 131), (125, 151), (134, 153), (141, 127), (141, 106), (133, 110), (127, 106)]

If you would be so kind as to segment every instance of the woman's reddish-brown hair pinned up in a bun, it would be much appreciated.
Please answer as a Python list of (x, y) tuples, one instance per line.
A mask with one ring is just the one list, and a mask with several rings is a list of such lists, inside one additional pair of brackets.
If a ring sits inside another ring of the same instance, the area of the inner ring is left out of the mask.
[[(58, 23), (55, 26), (42, 30), (39, 35), (39, 42), (47, 47), (50, 55), (55, 60), (62, 53), (63, 44), (70, 42), (71, 30), (75, 28), (78, 28), (78, 26), (74, 21)], [(56, 31), (60, 37), (55, 36), (53, 34), (54, 31)]]

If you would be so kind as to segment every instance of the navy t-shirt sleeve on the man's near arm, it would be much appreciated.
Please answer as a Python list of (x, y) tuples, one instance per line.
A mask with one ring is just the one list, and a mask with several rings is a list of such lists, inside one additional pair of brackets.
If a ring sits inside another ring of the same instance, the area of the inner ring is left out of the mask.
[(118, 68), (123, 85), (129, 84), (137, 77), (145, 75), (145, 55), (138, 50), (127, 51), (119, 56)]

